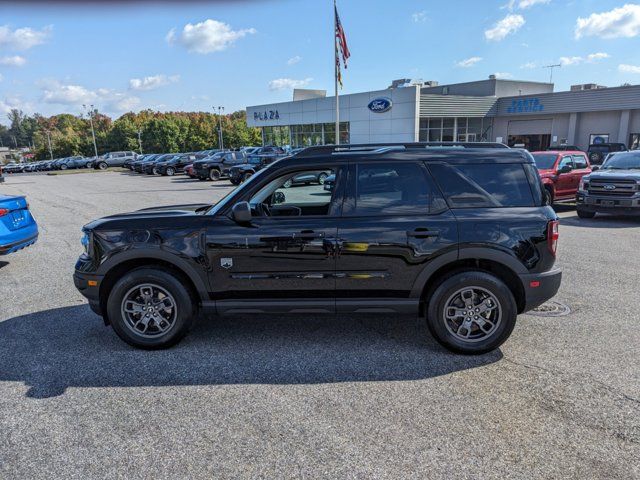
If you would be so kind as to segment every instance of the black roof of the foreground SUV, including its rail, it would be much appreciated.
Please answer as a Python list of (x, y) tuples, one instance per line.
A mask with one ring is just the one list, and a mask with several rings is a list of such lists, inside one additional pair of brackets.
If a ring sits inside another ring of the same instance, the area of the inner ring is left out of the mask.
[[(334, 160), (425, 160), (446, 163), (534, 163), (529, 152), (508, 148), (497, 143), (391, 143), (360, 145), (323, 145), (308, 147), (281, 160), (296, 163), (300, 160), (320, 163), (330, 157)], [(279, 164), (282, 165), (282, 163)]]

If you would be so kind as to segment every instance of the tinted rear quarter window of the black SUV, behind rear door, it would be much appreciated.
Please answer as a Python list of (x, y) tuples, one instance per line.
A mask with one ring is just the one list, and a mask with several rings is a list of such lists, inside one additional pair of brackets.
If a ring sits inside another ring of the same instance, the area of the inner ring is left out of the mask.
[(451, 208), (535, 206), (524, 167), (521, 163), (429, 165)]

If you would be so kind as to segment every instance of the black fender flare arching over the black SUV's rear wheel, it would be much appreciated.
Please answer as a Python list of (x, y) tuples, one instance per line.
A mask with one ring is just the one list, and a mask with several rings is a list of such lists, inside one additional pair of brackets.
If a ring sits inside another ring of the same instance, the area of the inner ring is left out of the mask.
[(440, 268), (457, 260), (490, 260), (509, 268), (516, 275), (530, 273), (513, 255), (495, 247), (463, 247), (456, 252), (447, 252), (431, 260), (420, 272), (411, 289), (411, 298), (420, 298), (424, 287)]

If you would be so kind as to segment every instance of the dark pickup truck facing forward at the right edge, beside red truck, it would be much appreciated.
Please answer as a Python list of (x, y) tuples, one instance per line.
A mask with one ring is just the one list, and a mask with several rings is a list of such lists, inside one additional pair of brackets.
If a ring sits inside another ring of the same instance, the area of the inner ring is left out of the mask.
[(640, 151), (609, 154), (602, 167), (582, 177), (576, 202), (580, 218), (598, 212), (640, 215)]

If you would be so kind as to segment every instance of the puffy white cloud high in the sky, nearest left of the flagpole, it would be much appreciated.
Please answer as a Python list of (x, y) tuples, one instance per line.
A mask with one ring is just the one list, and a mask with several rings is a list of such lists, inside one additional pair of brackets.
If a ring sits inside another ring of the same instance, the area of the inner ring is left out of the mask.
[(236, 40), (254, 33), (254, 28), (233, 30), (230, 25), (209, 18), (196, 24), (187, 23), (180, 33), (173, 28), (166, 39), (169, 44), (179, 43), (190, 52), (205, 54), (225, 50)]

